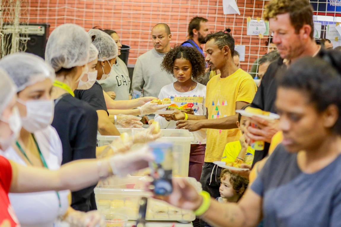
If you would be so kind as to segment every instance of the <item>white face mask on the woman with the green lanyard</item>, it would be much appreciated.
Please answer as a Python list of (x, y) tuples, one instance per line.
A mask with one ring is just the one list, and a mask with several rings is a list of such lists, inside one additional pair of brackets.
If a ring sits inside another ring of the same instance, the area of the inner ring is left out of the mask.
[(53, 100), (30, 100), (23, 102), (17, 101), (26, 106), (26, 117), (22, 117), (23, 127), (33, 133), (46, 128), (52, 123), (55, 112), (55, 103)]

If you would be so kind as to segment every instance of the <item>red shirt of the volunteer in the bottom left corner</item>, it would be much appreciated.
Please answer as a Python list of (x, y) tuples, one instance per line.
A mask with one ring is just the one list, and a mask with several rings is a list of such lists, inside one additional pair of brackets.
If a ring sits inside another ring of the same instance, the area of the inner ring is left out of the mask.
[(11, 181), (11, 163), (0, 156), (0, 227), (20, 227), (8, 197)]

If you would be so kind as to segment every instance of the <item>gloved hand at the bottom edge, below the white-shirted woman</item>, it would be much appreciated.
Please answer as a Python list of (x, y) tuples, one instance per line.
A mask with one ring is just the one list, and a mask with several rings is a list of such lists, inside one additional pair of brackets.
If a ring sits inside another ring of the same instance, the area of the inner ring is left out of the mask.
[(66, 219), (70, 227), (105, 227), (104, 216), (97, 210), (89, 212), (73, 211)]

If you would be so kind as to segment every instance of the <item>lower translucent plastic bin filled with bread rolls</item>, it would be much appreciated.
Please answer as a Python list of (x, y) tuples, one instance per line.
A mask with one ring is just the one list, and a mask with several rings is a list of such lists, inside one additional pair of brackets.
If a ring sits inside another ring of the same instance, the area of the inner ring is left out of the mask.
[[(192, 177), (188, 181), (198, 192), (201, 184)], [(103, 214), (119, 213), (128, 216), (129, 220), (136, 220), (138, 216), (138, 202), (141, 197), (148, 197), (148, 221), (180, 221), (190, 222), (195, 219), (192, 211), (176, 208), (168, 203), (150, 198), (151, 192), (144, 191), (146, 177), (110, 177), (101, 181), (94, 189), (97, 209)]]

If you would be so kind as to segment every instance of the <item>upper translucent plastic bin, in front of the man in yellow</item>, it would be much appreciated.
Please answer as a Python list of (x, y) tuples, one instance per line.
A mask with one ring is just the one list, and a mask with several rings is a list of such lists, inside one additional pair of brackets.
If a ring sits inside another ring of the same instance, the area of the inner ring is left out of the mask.
[[(127, 132), (135, 135), (146, 129), (125, 129), (118, 128), (120, 133)], [(190, 161), (191, 141), (194, 140), (192, 132), (185, 129), (161, 129), (163, 136), (157, 142), (172, 142), (173, 148), (173, 176), (188, 177)], [(118, 136), (97, 135), (98, 146), (110, 144)]]

